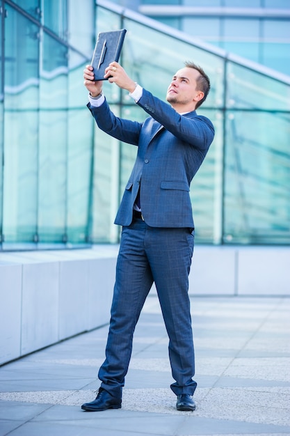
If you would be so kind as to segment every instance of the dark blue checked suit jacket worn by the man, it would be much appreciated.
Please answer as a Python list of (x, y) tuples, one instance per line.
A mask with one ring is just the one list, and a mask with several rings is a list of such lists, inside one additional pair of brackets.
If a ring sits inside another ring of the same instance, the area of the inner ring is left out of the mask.
[(131, 224), (140, 187), (142, 214), (149, 226), (193, 228), (189, 187), (214, 139), (214, 126), (195, 111), (178, 114), (145, 89), (137, 104), (150, 115), (143, 123), (118, 118), (106, 100), (100, 107), (88, 104), (101, 130), (138, 146), (115, 224)]

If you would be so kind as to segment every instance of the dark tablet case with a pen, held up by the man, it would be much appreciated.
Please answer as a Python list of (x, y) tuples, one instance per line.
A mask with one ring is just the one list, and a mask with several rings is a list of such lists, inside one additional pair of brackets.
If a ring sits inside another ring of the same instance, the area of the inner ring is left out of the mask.
[(91, 62), (95, 80), (108, 80), (108, 77), (104, 79), (105, 69), (109, 63), (119, 61), (126, 32), (121, 29), (99, 33)]

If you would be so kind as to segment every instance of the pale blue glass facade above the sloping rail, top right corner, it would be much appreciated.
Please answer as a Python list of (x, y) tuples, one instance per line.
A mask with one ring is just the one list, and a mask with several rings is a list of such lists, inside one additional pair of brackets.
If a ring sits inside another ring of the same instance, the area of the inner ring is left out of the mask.
[(139, 0), (132, 7), (193, 38), (290, 75), (289, 0)]

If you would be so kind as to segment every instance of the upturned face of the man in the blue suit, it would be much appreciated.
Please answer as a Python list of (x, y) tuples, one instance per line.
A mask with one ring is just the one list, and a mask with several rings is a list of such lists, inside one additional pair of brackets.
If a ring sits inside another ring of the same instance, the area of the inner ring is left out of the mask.
[(168, 86), (166, 100), (171, 104), (191, 104), (199, 91), (197, 79), (200, 72), (194, 68), (185, 67), (178, 70)]

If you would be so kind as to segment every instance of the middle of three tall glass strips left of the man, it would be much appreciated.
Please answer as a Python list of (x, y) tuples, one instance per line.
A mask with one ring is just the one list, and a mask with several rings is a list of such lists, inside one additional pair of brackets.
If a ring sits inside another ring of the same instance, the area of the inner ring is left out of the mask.
[(43, 35), (40, 76), (39, 239), (65, 242), (67, 215), (67, 48)]

